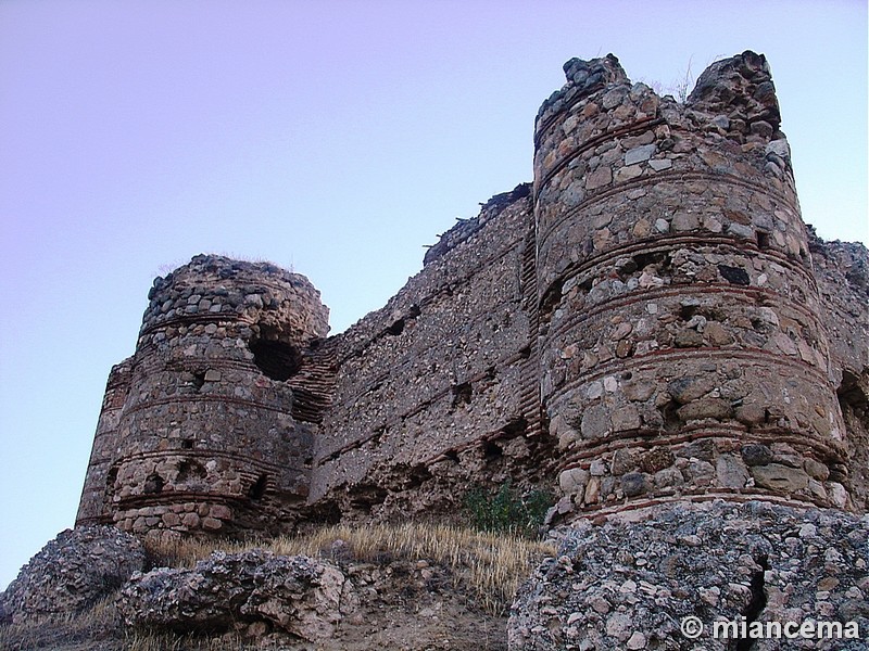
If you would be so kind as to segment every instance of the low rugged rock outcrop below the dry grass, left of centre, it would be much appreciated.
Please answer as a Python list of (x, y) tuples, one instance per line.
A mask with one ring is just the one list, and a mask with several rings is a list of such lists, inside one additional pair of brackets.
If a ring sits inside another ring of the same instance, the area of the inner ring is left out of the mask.
[(259, 549), (215, 551), (192, 570), (136, 574), (119, 598), (131, 626), (214, 634), (239, 622), (267, 622), (308, 641), (331, 637), (355, 604), (352, 585), (335, 565)]

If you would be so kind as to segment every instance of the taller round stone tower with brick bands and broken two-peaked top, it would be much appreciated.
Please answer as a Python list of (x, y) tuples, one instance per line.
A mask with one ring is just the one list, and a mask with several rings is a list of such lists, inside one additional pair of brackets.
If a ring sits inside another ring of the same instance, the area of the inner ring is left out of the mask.
[(684, 103), (565, 64), (534, 129), (541, 397), (562, 511), (849, 507), (844, 426), (769, 66)]

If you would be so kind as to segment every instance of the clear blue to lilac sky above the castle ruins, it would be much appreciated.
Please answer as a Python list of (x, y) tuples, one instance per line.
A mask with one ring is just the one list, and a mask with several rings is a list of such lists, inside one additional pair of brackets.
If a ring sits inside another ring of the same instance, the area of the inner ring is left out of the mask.
[(865, 0), (0, 0), (0, 588), (73, 524), (154, 276), (268, 259), (339, 332), (531, 180), (566, 60), (667, 89), (746, 49), (804, 219), (869, 242)]

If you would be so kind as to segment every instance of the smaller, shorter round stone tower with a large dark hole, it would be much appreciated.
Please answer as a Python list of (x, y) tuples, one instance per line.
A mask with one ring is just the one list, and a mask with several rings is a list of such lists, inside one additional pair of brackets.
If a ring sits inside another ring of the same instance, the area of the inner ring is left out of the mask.
[(312, 431), (287, 382), (328, 331), (303, 276), (194, 257), (149, 295), (105, 500), (137, 533), (275, 533), (307, 495)]

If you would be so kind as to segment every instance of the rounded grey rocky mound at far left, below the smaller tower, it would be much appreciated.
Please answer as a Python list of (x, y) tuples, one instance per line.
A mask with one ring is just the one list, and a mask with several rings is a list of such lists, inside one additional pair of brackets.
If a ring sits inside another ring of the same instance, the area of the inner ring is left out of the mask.
[(121, 587), (144, 562), (142, 544), (113, 526), (66, 529), (0, 595), (0, 623), (83, 611)]

